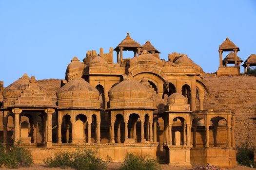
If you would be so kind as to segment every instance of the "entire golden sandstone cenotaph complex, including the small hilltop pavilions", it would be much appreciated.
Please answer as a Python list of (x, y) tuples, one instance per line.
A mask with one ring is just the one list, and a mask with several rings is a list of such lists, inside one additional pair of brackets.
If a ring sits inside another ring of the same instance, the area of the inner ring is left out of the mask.
[[(134, 56), (125, 58), (125, 51)], [(222, 60), (223, 51), (234, 52)], [(219, 46), (218, 76), (240, 73), (237, 51), (228, 38)], [(204, 71), (187, 55), (173, 52), (165, 61), (159, 54), (150, 41), (140, 45), (127, 33), (108, 53), (101, 48), (82, 61), (74, 57), (54, 98), (34, 76), (24, 74), (5, 88), (1, 82), (0, 139), (22, 139), (35, 163), (86, 148), (114, 162), (136, 153), (181, 167), (235, 167), (234, 113), (204, 110)], [(254, 54), (243, 66), (255, 64)]]

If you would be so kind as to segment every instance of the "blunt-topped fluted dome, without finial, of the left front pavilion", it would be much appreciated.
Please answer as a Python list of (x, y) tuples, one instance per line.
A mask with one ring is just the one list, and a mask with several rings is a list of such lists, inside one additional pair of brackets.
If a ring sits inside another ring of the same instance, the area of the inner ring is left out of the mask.
[(98, 90), (82, 78), (72, 79), (56, 94), (59, 107), (100, 108)]

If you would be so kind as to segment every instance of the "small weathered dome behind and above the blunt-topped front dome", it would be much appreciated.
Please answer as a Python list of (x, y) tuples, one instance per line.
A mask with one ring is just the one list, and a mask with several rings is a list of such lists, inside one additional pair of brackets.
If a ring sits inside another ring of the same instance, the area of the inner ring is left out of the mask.
[(83, 62), (80, 62), (77, 57), (74, 57), (66, 69), (65, 79), (67, 81), (70, 81), (74, 78), (82, 77), (84, 68), (85, 64)]

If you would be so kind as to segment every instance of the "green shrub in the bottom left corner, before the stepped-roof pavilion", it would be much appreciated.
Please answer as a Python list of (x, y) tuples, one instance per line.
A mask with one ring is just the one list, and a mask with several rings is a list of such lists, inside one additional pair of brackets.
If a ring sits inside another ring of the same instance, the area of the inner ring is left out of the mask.
[(33, 163), (32, 155), (26, 148), (20, 147), (19, 141), (13, 148), (5, 148), (0, 144), (0, 165), (6, 168), (29, 167)]

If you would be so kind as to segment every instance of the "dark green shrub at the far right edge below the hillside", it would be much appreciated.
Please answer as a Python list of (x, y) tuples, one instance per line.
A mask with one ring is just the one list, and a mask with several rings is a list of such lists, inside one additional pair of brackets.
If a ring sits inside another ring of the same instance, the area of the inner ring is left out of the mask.
[(250, 147), (247, 143), (242, 144), (240, 147), (236, 147), (236, 160), (239, 164), (250, 167), (254, 164), (254, 147)]

